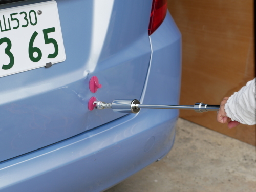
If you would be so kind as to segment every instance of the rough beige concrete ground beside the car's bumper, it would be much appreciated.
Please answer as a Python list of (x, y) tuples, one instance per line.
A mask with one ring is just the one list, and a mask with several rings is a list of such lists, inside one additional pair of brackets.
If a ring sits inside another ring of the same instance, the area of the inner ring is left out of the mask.
[(107, 192), (256, 191), (255, 147), (179, 119), (173, 149)]

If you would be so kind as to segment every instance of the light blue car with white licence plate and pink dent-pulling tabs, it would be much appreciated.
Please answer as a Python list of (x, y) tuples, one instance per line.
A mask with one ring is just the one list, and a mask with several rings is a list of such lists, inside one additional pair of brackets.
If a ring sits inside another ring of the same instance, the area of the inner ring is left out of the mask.
[(0, 191), (103, 191), (164, 157), (181, 34), (166, 0), (0, 0)]

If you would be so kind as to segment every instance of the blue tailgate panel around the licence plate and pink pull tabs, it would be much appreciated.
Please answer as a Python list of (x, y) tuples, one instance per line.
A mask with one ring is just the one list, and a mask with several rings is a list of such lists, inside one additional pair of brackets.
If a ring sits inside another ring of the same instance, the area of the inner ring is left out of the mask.
[[(5, 4), (0, 9), (37, 2), (41, 1)], [(94, 4), (57, 0), (65, 62), (0, 78), (0, 162), (125, 115), (90, 112), (92, 96), (105, 102), (141, 97), (151, 56), (147, 35), (151, 2), (114, 1), (98, 60), (91, 54)], [(89, 90), (92, 76), (102, 84), (95, 94)]]

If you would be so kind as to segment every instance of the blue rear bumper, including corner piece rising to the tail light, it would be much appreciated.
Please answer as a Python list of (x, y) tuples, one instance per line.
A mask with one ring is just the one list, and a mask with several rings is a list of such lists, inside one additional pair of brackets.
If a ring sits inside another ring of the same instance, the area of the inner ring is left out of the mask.
[[(169, 14), (150, 40), (153, 53), (140, 101), (177, 104), (181, 35)], [(141, 109), (138, 114), (2, 162), (0, 191), (105, 190), (168, 153), (177, 118), (177, 110)]]

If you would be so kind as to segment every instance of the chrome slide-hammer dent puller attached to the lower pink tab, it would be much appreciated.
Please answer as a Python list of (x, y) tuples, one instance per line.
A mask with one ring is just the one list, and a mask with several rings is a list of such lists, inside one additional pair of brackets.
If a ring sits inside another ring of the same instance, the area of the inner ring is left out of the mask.
[(116, 113), (138, 113), (141, 108), (148, 109), (185, 109), (195, 110), (202, 113), (207, 111), (218, 111), (220, 105), (208, 105), (204, 103), (196, 103), (195, 105), (145, 105), (140, 104), (137, 99), (126, 100), (116, 99), (112, 103), (105, 103), (102, 101), (95, 101), (96, 109), (111, 108)]

